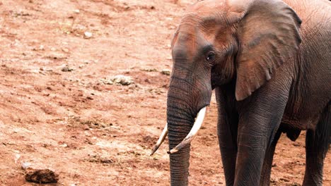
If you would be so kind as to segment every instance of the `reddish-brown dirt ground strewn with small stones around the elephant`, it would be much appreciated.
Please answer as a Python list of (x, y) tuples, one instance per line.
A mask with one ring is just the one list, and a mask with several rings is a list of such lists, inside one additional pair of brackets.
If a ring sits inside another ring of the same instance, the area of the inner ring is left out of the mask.
[[(0, 1), (0, 185), (36, 185), (24, 180), (26, 162), (58, 173), (57, 185), (169, 185), (168, 144), (149, 152), (165, 124), (169, 76), (160, 72), (171, 69), (188, 4)], [(135, 84), (108, 85), (115, 75)], [(282, 135), (272, 185), (301, 185), (304, 146), (304, 132), (296, 142)], [(190, 161), (190, 185), (225, 185), (214, 99)]]

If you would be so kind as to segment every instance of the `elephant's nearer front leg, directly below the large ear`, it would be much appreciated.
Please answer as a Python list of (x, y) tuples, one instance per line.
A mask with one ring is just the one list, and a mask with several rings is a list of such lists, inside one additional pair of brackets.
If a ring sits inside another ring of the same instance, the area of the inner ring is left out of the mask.
[[(284, 97), (258, 97), (255, 94), (241, 103), (234, 185), (260, 185), (264, 160), (267, 158), (270, 161), (267, 163), (271, 163), (274, 152), (272, 149), (267, 153), (267, 149), (272, 146), (286, 106), (286, 94), (281, 95)], [(262, 179), (269, 179), (265, 178), (269, 177), (269, 168), (271, 166), (266, 165), (264, 171), (267, 173)]]

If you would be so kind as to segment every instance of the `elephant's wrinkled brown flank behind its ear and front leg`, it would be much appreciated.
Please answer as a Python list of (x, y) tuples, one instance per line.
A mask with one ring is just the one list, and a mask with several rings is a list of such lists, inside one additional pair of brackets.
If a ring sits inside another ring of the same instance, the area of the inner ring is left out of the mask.
[(331, 99), (331, 7), (323, 1), (285, 2), (303, 22), (301, 45), (289, 61), (293, 78), (282, 122), (313, 130)]

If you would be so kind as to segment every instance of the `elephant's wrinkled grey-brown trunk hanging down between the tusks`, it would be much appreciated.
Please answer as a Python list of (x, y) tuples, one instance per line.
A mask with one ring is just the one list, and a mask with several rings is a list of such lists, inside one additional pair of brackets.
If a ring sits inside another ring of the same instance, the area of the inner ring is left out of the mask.
[[(176, 147), (185, 139), (194, 123), (194, 118), (190, 113), (182, 97), (185, 93), (173, 92), (170, 87), (168, 92), (168, 140), (169, 149)], [(188, 168), (190, 160), (190, 144), (185, 145), (180, 151), (170, 154), (170, 179), (171, 185), (188, 185)]]

